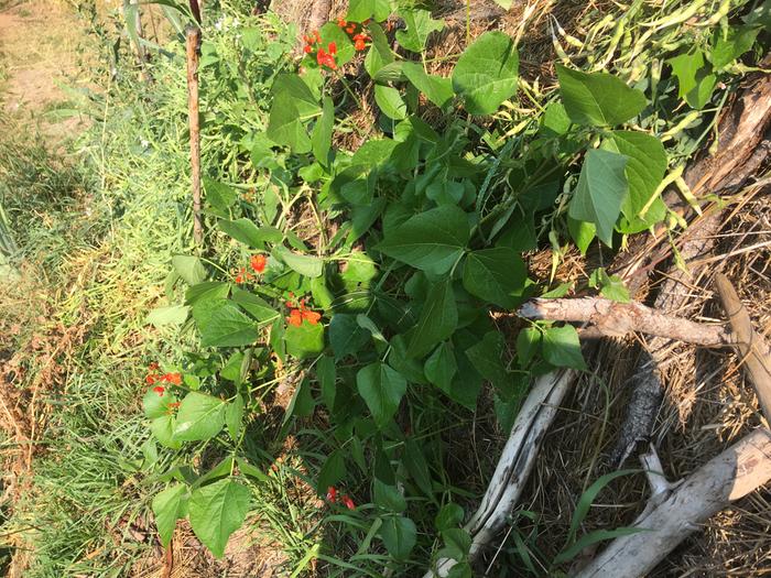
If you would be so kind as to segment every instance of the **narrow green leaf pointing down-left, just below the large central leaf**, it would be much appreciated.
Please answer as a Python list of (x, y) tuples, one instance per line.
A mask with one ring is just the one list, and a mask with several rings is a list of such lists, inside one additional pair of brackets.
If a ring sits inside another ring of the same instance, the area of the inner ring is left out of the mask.
[(409, 334), (408, 356), (420, 358), (453, 335), (458, 326), (458, 307), (449, 279), (436, 283), (426, 296), (417, 325)]

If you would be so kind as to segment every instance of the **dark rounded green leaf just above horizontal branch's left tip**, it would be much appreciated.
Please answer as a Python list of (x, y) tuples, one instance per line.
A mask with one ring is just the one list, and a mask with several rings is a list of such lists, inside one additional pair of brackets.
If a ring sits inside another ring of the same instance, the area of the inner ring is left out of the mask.
[(463, 286), (471, 295), (503, 307), (517, 307), (528, 280), (522, 258), (508, 247), (473, 251), (466, 257)]

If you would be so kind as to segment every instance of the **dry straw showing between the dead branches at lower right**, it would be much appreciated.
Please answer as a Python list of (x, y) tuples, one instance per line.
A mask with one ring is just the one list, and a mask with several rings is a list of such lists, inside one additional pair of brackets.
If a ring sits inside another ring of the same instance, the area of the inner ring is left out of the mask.
[[(771, 190), (753, 190), (740, 211), (725, 222), (710, 266), (693, 280), (687, 315), (725, 319), (713, 291), (723, 272), (737, 287), (758, 331), (771, 332)], [(745, 248), (754, 246), (752, 251)], [(696, 264), (696, 263), (694, 263)], [(636, 366), (633, 340), (605, 340), (590, 360), (597, 368), (576, 384), (551, 428), (531, 477), (525, 510), (539, 512), (537, 547), (551, 559), (567, 536), (583, 491), (609, 471), (605, 456), (613, 447), (626, 413), (625, 388)], [(732, 351), (673, 346), (663, 369), (665, 401), (652, 443), (671, 480), (699, 466), (762, 423), (758, 402)], [(631, 460), (626, 467), (638, 467)], [(629, 524), (644, 506), (645, 479), (631, 476), (599, 497), (582, 531)], [(526, 534), (529, 527), (520, 527)], [(688, 537), (651, 576), (761, 576), (771, 567), (771, 488), (736, 502)]]

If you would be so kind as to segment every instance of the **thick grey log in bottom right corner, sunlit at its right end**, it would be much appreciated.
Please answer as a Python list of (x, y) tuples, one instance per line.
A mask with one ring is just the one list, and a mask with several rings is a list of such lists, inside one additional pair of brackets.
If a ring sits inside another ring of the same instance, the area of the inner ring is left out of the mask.
[(771, 480), (771, 433), (756, 429), (692, 473), (666, 500), (644, 512), (641, 532), (615, 539), (575, 578), (641, 577), (732, 501)]

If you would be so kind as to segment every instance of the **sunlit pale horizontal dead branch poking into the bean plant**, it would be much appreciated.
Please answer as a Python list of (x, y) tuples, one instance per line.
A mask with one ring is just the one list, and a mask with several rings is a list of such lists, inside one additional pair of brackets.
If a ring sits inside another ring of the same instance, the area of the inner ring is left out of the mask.
[(725, 327), (664, 315), (641, 303), (618, 303), (599, 297), (535, 298), (522, 305), (517, 314), (528, 319), (591, 323), (594, 326), (590, 328), (610, 337), (639, 331), (705, 347), (736, 343), (732, 334)]

